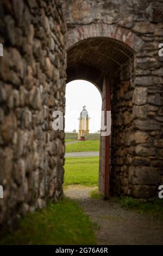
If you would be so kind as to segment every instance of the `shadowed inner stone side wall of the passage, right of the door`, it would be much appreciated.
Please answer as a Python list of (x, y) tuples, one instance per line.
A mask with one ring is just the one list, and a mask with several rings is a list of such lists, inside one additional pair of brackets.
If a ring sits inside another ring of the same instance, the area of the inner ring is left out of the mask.
[[(133, 166), (130, 134), (133, 131), (133, 59), (111, 82), (110, 193), (131, 194), (129, 170)], [(116, 75), (116, 74), (115, 74)]]

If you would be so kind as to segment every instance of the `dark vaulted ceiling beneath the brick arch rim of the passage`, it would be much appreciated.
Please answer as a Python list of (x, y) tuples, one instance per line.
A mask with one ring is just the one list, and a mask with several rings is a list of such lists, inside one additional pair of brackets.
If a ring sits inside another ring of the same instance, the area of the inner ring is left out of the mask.
[(132, 57), (133, 51), (116, 40), (89, 38), (80, 41), (67, 51), (67, 66), (84, 64), (111, 75), (120, 70)]

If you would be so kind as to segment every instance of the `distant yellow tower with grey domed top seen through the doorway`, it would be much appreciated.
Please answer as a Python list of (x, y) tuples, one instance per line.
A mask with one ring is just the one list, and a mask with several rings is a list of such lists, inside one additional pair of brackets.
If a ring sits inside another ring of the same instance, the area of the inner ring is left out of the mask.
[(79, 133), (78, 133), (78, 139), (81, 138), (81, 136), (84, 136), (85, 133), (89, 133), (89, 120), (90, 117), (88, 115), (88, 112), (85, 109), (85, 106), (83, 106), (82, 112), (80, 112), (79, 120)]

